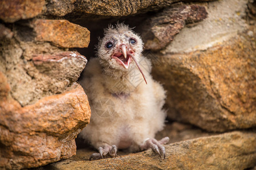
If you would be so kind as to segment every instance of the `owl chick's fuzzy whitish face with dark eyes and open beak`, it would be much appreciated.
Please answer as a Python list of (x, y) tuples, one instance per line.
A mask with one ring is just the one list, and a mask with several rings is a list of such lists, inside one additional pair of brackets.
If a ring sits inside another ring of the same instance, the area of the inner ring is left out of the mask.
[(105, 30), (104, 35), (97, 54), (107, 67), (127, 72), (141, 60), (143, 42), (127, 25), (110, 27)]

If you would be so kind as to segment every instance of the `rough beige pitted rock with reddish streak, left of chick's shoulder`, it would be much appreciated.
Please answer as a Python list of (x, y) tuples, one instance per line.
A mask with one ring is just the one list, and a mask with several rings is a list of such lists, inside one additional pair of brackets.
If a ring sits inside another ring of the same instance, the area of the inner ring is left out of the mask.
[[(17, 33), (15, 37), (20, 39)], [(23, 106), (63, 92), (87, 62), (81, 54), (64, 52), (48, 42), (4, 39), (0, 44), (0, 71), (8, 79), (11, 95)]]

